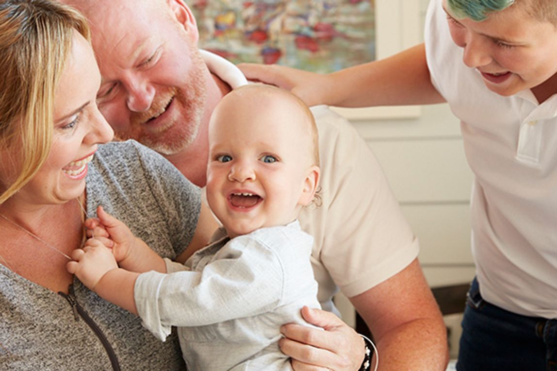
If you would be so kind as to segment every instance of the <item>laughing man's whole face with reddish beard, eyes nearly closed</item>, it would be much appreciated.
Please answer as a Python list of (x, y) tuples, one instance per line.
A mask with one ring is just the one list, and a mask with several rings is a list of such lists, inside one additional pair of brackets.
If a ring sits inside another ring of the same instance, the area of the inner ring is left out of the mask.
[(163, 154), (187, 148), (199, 131), (209, 76), (193, 18), (180, 23), (184, 9), (153, 0), (113, 0), (81, 10), (91, 23), (102, 75), (97, 103), (116, 138)]

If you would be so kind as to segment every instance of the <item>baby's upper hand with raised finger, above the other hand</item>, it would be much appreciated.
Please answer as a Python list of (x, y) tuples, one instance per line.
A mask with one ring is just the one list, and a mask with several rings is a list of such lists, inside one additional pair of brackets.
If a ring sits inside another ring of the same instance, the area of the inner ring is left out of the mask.
[(116, 262), (127, 258), (135, 243), (135, 236), (130, 228), (109, 213), (102, 206), (97, 207), (98, 218), (85, 221), (87, 237), (98, 238), (106, 247), (112, 249)]

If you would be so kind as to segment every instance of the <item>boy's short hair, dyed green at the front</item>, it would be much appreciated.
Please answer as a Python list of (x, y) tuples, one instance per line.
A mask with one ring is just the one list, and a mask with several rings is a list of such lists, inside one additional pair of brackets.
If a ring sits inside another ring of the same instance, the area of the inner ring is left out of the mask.
[(557, 27), (556, 0), (447, 0), (450, 11), (457, 18), (484, 21), (490, 13), (500, 12), (512, 4), (522, 7), (526, 14), (540, 22)]

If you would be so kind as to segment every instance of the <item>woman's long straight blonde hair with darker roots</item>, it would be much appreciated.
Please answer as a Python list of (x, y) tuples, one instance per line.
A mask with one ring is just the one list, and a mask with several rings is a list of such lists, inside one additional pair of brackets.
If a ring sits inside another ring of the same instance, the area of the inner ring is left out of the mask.
[(2, 184), (0, 204), (35, 176), (50, 153), (53, 100), (74, 30), (90, 40), (86, 19), (69, 6), (48, 0), (0, 3), (0, 149), (18, 151), (20, 159), (16, 179)]

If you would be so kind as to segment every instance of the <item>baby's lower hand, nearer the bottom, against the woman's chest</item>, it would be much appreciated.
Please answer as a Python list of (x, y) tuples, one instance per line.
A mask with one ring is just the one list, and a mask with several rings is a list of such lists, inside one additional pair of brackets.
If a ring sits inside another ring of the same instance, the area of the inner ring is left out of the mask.
[(66, 269), (91, 290), (95, 290), (107, 272), (118, 269), (112, 251), (97, 238), (89, 238), (82, 249), (76, 248), (72, 252), (71, 257), (74, 261), (68, 262)]

